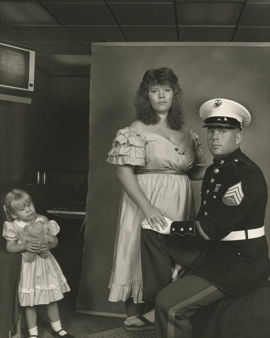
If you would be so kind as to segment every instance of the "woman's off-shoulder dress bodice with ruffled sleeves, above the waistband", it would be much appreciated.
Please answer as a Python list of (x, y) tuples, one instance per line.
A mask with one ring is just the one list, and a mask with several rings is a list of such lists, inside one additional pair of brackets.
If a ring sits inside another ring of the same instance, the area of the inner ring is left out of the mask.
[(120, 129), (108, 155), (109, 163), (134, 165), (134, 172), (140, 174), (185, 172), (205, 162), (198, 136), (192, 131), (182, 144), (176, 145), (158, 134), (132, 127)]

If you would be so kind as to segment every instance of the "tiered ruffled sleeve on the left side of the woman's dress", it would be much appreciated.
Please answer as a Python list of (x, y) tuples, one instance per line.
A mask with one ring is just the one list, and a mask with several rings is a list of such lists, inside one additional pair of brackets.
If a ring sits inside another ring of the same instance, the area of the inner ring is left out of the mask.
[(127, 127), (120, 129), (108, 153), (107, 162), (113, 164), (145, 165), (146, 138), (143, 131)]

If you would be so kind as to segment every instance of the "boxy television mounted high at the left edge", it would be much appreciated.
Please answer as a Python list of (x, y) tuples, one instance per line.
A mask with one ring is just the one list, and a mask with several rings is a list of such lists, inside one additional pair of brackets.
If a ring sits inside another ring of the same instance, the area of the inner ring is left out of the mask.
[(34, 91), (35, 51), (0, 40), (0, 89)]

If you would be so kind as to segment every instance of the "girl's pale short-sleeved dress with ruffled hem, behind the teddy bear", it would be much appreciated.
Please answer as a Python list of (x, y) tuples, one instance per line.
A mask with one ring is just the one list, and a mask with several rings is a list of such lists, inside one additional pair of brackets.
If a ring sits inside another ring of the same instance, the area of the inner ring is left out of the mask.
[[(46, 235), (53, 237), (59, 233), (60, 228), (55, 221), (49, 221), (40, 215), (37, 215), (36, 221), (38, 220), (45, 221), (43, 227)], [(3, 236), (7, 240), (17, 241), (17, 244), (23, 243), (19, 237), (25, 234), (26, 224), (20, 220), (5, 222)], [(70, 291), (70, 287), (52, 254), (48, 258), (37, 255), (32, 262), (27, 262), (22, 255), (19, 282), (21, 306), (49, 304), (62, 299), (63, 293), (67, 291)]]

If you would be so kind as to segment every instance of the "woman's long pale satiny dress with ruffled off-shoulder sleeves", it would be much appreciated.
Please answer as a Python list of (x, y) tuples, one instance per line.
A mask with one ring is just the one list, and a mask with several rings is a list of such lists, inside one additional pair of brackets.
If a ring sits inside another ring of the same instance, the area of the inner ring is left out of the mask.
[[(192, 131), (182, 144), (127, 127), (117, 132), (107, 162), (134, 165), (134, 174), (149, 202), (171, 220), (195, 219), (192, 186), (187, 171), (205, 162), (198, 136)], [(122, 192), (116, 231), (109, 301), (142, 303), (140, 250), (141, 209)]]

